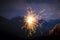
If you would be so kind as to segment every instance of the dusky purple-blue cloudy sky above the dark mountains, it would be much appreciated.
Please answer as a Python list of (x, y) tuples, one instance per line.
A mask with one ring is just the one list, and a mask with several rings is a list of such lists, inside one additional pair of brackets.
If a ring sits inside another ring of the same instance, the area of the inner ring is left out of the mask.
[(1, 0), (0, 16), (12, 19), (17, 16), (25, 16), (27, 8), (31, 7), (36, 14), (43, 19), (60, 19), (60, 0)]

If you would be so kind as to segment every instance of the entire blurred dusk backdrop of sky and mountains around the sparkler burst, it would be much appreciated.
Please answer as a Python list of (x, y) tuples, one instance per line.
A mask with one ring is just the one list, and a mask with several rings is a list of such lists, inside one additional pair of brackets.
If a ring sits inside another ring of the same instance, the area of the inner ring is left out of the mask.
[[(32, 35), (33, 40), (58, 39), (60, 36), (60, 0), (0, 0), (0, 39), (27, 40), (27, 30), (24, 26), (24, 16), (27, 8), (31, 7), (42, 17)], [(42, 10), (45, 10), (41, 13)]]

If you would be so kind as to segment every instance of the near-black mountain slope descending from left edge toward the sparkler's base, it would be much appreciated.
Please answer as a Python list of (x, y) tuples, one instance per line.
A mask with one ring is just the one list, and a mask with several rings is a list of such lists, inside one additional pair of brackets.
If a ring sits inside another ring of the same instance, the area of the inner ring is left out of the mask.
[[(20, 19), (21, 20), (21, 19)], [(8, 20), (4, 17), (0, 16), (0, 37), (6, 39), (10, 38), (25, 38), (25, 33), (24, 31), (19, 29), (16, 23), (12, 20)], [(20, 23), (21, 24), (21, 23)]]

